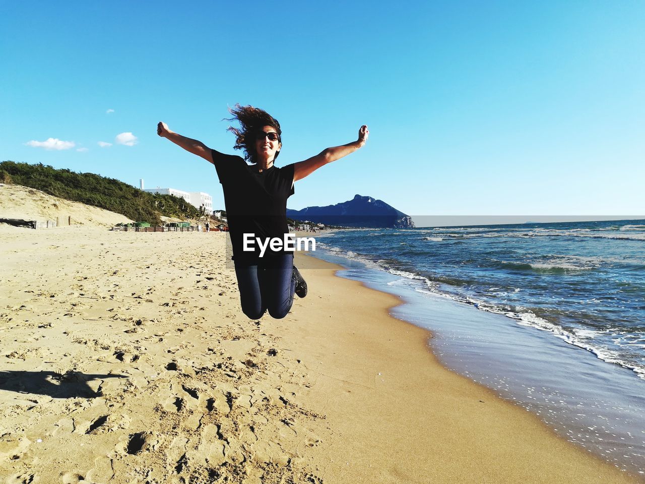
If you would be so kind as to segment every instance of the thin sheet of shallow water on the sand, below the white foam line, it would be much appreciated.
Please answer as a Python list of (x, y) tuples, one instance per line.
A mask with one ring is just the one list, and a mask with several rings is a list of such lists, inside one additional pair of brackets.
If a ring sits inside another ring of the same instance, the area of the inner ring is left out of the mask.
[(448, 368), (537, 414), (557, 434), (620, 469), (645, 469), (645, 382), (548, 332), (428, 290), (423, 281), (317, 250), (339, 276), (401, 297), (392, 315), (432, 330)]

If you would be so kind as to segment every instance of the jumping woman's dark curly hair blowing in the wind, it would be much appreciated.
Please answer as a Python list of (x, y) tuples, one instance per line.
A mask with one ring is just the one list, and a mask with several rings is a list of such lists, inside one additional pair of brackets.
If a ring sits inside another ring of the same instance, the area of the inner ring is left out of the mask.
[[(246, 159), (246, 161), (250, 161), (253, 164), (257, 163), (255, 135), (258, 130), (263, 128), (263, 126), (272, 126), (275, 128), (278, 132), (278, 141), (282, 143), (280, 123), (278, 123), (277, 119), (263, 109), (254, 108), (253, 106), (240, 106), (238, 103), (233, 108), (228, 108), (228, 111), (233, 115), (233, 117), (227, 118), (226, 120), (237, 120), (241, 126), (241, 128), (228, 126), (228, 131), (235, 134), (235, 146), (233, 146), (233, 148), (236, 150), (243, 149), (244, 159)], [(275, 157), (273, 157), (274, 162), (279, 154), (279, 151), (275, 152)]]

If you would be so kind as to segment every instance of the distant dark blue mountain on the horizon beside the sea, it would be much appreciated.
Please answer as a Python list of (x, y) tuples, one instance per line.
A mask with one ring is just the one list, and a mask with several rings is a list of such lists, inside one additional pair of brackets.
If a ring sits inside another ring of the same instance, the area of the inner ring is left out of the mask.
[(353, 199), (326, 207), (287, 208), (286, 216), (342, 227), (408, 228), (414, 227), (410, 216), (382, 200), (356, 195)]

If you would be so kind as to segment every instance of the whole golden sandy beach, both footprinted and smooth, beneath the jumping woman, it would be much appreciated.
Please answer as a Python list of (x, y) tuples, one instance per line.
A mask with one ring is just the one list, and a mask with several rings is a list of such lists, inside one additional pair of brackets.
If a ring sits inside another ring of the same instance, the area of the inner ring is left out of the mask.
[(286, 318), (246, 318), (224, 237), (0, 228), (3, 482), (639, 482), (329, 263)]

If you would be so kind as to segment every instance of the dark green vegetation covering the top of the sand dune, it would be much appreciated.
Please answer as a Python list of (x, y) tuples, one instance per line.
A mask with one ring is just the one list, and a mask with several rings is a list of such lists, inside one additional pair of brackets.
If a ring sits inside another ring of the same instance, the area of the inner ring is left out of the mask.
[(93, 205), (152, 225), (161, 225), (161, 216), (204, 217), (203, 209), (190, 205), (181, 197), (151, 194), (114, 178), (57, 170), (42, 163), (30, 165), (3, 161), (0, 163), (0, 183), (36, 188), (55, 197)]

